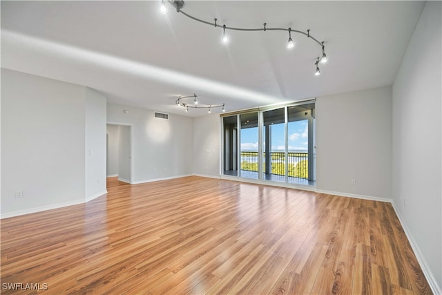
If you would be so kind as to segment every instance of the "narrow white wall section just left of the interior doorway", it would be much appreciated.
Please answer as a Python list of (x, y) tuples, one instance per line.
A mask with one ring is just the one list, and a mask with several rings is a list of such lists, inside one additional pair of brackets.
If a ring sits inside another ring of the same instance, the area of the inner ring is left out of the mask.
[(86, 200), (106, 193), (106, 104), (104, 95), (84, 88), (86, 97)]

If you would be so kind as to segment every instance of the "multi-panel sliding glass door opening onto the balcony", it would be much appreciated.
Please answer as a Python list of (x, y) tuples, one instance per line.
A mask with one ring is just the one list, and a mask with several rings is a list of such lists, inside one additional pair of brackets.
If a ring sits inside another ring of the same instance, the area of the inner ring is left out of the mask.
[(314, 184), (314, 109), (310, 101), (224, 115), (223, 175)]

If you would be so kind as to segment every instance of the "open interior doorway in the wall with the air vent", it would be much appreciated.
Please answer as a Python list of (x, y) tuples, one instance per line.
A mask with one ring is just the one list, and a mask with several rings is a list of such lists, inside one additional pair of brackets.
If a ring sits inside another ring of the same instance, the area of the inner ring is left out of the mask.
[(132, 184), (132, 127), (106, 125), (106, 175)]

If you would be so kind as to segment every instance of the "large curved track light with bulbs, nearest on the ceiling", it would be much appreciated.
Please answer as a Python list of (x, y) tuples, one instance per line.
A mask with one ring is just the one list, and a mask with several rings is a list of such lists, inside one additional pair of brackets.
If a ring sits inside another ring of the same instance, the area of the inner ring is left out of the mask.
[[(171, 3), (173, 5), (173, 7), (176, 8), (177, 12), (181, 12), (182, 15), (189, 17), (189, 19), (193, 19), (194, 21), (199, 21), (200, 23), (205, 23), (206, 25), (215, 26), (215, 28), (222, 28), (222, 43), (224, 43), (224, 44), (227, 44), (229, 42), (228, 35), (226, 35), (226, 30), (238, 30), (238, 31), (244, 31), (244, 32), (261, 31), (261, 30), (266, 32), (268, 30), (282, 30), (282, 31), (289, 31), (289, 41), (287, 42), (287, 48), (290, 49), (290, 48), (294, 48), (294, 46), (295, 46), (293, 39), (291, 39), (291, 32), (296, 32), (298, 34), (305, 35), (309, 39), (312, 39), (317, 44), (319, 44), (319, 46), (321, 46), (321, 48), (322, 48), (322, 55), (320, 55), (320, 57), (318, 57), (318, 61), (315, 63), (315, 65), (316, 65), (315, 75), (320, 74), (318, 63), (320, 62), (321, 64), (325, 64), (327, 62), (327, 55), (325, 55), (324, 42), (320, 42), (316, 38), (311, 36), (310, 30), (307, 30), (307, 32), (304, 32), (302, 30), (292, 30), (291, 28), (287, 28), (287, 29), (286, 28), (267, 28), (267, 23), (264, 23), (263, 28), (235, 28), (235, 27), (226, 26), (225, 24), (220, 26), (217, 23), (217, 19), (214, 19), (214, 22), (212, 23), (210, 21), (204, 21), (202, 19), (198, 19), (197, 17), (193, 17), (192, 15), (189, 15), (186, 12), (182, 11), (182, 8), (184, 7), (183, 0), (168, 0), (168, 2)], [(162, 3), (162, 5), (164, 4), (163, 0), (161, 1), (161, 3)], [(166, 13), (166, 12), (163, 12), (164, 10), (162, 10), (161, 6), (160, 6), (160, 11), (162, 13)]]

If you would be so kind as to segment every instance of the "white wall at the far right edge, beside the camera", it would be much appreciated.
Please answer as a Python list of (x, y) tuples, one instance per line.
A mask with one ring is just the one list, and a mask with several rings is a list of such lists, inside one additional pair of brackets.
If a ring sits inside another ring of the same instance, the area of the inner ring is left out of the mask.
[(441, 11), (441, 1), (425, 4), (393, 84), (393, 198), (439, 285), (439, 292), (442, 292)]

